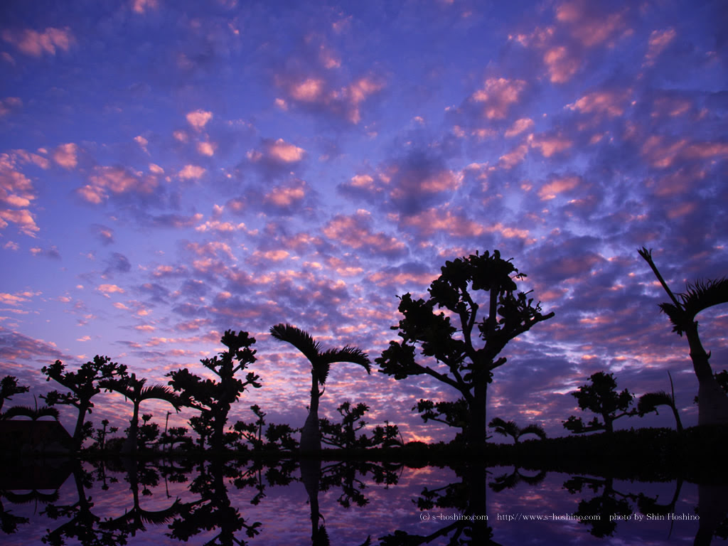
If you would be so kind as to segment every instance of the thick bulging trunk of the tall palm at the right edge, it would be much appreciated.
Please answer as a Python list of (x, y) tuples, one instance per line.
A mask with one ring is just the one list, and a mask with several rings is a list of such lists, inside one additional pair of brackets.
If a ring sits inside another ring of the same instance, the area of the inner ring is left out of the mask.
[(687, 325), (685, 329), (690, 344), (690, 358), (697, 376), (697, 424), (728, 424), (728, 396), (713, 376), (708, 353), (700, 343), (697, 335), (697, 323)]

